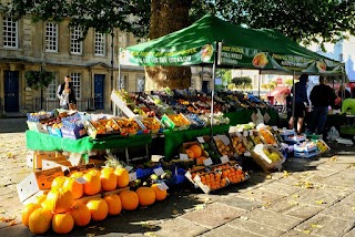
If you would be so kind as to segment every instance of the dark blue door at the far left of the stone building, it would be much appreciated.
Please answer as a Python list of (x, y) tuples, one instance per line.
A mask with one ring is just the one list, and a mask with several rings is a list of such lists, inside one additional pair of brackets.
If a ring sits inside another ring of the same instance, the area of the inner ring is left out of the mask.
[(4, 71), (4, 111), (19, 112), (19, 71)]

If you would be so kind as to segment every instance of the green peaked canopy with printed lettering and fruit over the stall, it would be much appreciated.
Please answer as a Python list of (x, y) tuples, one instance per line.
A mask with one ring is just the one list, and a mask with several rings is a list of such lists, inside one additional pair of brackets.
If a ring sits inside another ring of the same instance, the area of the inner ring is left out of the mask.
[(217, 45), (221, 68), (342, 73), (341, 62), (303, 48), (276, 30), (242, 28), (211, 14), (180, 31), (122, 49), (120, 64), (213, 64)]

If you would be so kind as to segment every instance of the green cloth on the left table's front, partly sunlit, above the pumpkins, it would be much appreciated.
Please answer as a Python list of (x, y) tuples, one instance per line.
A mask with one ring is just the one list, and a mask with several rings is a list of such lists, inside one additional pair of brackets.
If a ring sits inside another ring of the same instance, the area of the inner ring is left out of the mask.
[(27, 147), (34, 151), (67, 151), (73, 153), (88, 153), (93, 150), (132, 147), (152, 142), (150, 134), (136, 136), (109, 135), (102, 138), (85, 136), (80, 140), (55, 137), (44, 133), (26, 131)]

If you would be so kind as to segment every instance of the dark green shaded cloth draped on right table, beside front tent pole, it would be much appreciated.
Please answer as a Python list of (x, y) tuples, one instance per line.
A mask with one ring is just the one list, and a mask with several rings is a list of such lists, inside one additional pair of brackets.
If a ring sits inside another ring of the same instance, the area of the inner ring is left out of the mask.
[[(213, 127), (213, 134), (227, 133), (230, 125), (219, 125)], [(178, 154), (179, 148), (183, 143), (196, 141), (197, 136), (211, 135), (211, 128), (204, 127), (199, 130), (183, 130), (183, 131), (165, 131), (164, 140), (164, 155), (166, 159), (173, 158)]]

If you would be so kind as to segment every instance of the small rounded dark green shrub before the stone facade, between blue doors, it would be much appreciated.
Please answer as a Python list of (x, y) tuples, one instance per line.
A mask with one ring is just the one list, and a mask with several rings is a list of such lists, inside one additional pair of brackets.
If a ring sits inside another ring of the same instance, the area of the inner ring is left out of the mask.
[(44, 70), (24, 72), (27, 86), (39, 90), (45, 89), (54, 80), (54, 73)]

